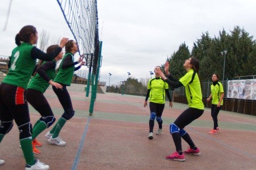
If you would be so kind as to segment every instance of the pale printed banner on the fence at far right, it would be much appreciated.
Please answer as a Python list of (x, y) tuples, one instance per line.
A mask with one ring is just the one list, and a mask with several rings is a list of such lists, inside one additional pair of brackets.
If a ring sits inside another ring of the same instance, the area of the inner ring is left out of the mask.
[(228, 98), (256, 99), (256, 79), (229, 80)]

